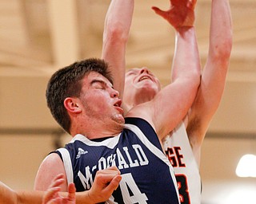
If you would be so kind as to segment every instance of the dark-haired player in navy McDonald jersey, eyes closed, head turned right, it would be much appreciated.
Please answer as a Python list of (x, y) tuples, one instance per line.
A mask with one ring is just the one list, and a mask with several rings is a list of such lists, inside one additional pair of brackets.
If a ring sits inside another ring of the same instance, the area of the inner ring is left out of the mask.
[[(157, 80), (152, 78), (152, 83), (160, 89)], [(124, 118), (105, 61), (90, 58), (59, 69), (48, 83), (47, 104), (73, 139), (44, 159), (35, 189), (46, 190), (61, 173), (77, 191), (90, 190), (99, 170), (118, 167), (122, 180), (106, 202), (179, 203), (174, 171), (161, 141), (186, 115), (199, 83), (198, 66), (179, 69), (172, 84)]]

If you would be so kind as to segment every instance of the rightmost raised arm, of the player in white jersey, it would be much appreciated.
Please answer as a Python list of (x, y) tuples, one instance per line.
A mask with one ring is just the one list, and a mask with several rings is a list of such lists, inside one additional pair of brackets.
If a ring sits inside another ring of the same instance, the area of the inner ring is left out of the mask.
[[(201, 147), (210, 120), (222, 99), (231, 48), (232, 20), (229, 0), (212, 0), (209, 54), (187, 127), (190, 140), (195, 142), (192, 144), (194, 148)], [(194, 121), (198, 124), (196, 129)]]

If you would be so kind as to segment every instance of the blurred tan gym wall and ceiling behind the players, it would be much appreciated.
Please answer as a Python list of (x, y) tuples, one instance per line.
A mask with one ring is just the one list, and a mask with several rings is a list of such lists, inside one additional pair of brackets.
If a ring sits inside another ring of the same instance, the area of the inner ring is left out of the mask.
[[(174, 30), (150, 9), (169, 1), (136, 0), (126, 67), (146, 65), (170, 80)], [(42, 159), (70, 136), (46, 108), (55, 70), (101, 57), (110, 0), (1, 0), (0, 180), (31, 190)], [(210, 0), (198, 0), (196, 29), (202, 66), (209, 45)], [(222, 103), (202, 146), (202, 203), (255, 203), (256, 179), (235, 174), (242, 155), (256, 155), (256, 1), (230, 0), (234, 45)], [(254, 162), (256, 163), (255, 159)], [(247, 167), (247, 170), (253, 167)], [(256, 172), (256, 170), (254, 171)]]

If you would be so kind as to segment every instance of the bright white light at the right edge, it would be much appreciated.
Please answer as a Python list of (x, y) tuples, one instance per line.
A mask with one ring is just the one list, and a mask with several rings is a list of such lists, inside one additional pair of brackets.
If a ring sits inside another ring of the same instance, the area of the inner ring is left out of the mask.
[(256, 177), (256, 155), (243, 155), (235, 173), (238, 177)]

